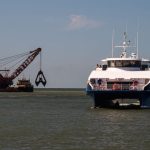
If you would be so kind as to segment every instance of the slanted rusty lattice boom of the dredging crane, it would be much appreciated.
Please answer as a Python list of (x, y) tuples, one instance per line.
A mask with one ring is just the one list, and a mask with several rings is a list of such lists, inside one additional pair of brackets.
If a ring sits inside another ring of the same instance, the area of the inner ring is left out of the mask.
[(13, 80), (17, 76), (19, 76), (19, 74), (23, 72), (30, 65), (30, 63), (41, 52), (41, 50), (42, 50), (41, 48), (37, 48), (33, 51), (30, 51), (30, 55), (28, 56), (28, 58), (11, 74), (10, 79)]

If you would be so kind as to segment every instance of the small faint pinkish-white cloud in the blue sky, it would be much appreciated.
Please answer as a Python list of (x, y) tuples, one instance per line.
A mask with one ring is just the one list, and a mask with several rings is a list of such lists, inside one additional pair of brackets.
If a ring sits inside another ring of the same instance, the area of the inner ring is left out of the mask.
[(69, 30), (77, 30), (81, 28), (97, 28), (101, 26), (99, 21), (88, 19), (83, 15), (71, 15), (69, 18)]

